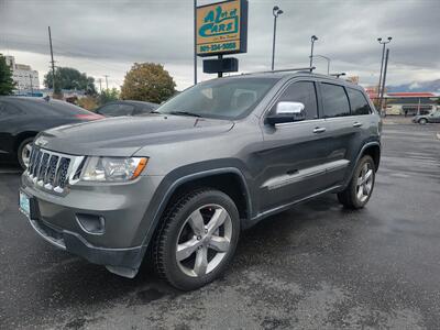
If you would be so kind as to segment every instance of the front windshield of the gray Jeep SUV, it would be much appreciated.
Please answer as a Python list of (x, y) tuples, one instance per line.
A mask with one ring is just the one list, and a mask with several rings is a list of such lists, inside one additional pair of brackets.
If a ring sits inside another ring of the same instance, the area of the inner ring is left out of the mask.
[(156, 112), (217, 119), (249, 114), (278, 78), (221, 78), (200, 82), (174, 97)]

